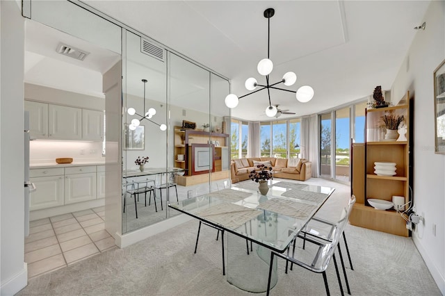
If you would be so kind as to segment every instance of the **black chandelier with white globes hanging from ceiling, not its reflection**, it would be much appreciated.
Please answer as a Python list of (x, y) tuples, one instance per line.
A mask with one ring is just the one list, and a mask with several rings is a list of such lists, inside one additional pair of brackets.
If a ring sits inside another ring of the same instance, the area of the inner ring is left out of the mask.
[(257, 86), (260, 86), (261, 88), (259, 90), (255, 90), (254, 92), (244, 94), (241, 97), (237, 97), (236, 94), (228, 94), (227, 97), (225, 97), (225, 105), (229, 108), (235, 108), (236, 106), (238, 106), (239, 99), (247, 97), (250, 94), (254, 94), (255, 92), (267, 89), (269, 97), (269, 106), (266, 108), (266, 115), (268, 117), (274, 117), (277, 114), (277, 107), (273, 106), (270, 103), (270, 90), (269, 90), (270, 88), (273, 88), (274, 90), (284, 90), (285, 92), (293, 92), (296, 94), (298, 101), (302, 103), (306, 103), (307, 101), (310, 101), (312, 97), (314, 97), (314, 90), (309, 85), (303, 85), (302, 87), (298, 88), (297, 91), (286, 90), (284, 88), (275, 87), (275, 85), (279, 83), (284, 83), (284, 85), (286, 86), (293, 85), (293, 83), (297, 81), (297, 75), (293, 72), (287, 72), (286, 74), (283, 75), (283, 79), (281, 81), (269, 84), (269, 74), (270, 72), (272, 72), (273, 69), (273, 63), (269, 59), (270, 17), (273, 17), (274, 14), (275, 10), (273, 8), (268, 8), (264, 10), (264, 17), (268, 19), (267, 58), (260, 60), (257, 67), (259, 74), (266, 76), (266, 85), (258, 84), (257, 79), (254, 79), (252, 77), (247, 79), (245, 81), (245, 88), (247, 88), (248, 90), (254, 90), (255, 88), (257, 88)]

